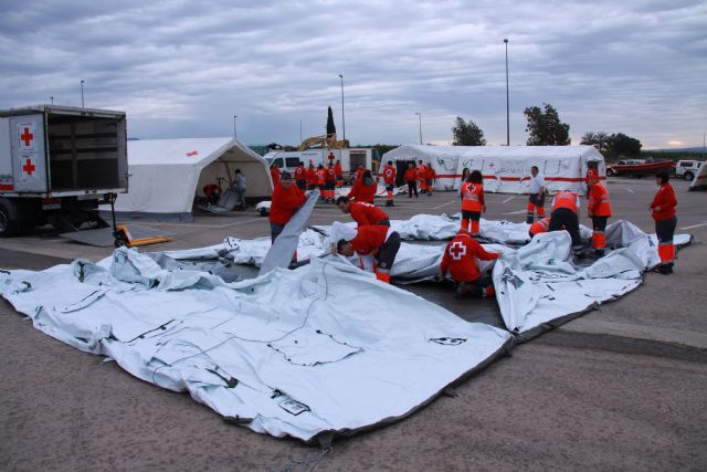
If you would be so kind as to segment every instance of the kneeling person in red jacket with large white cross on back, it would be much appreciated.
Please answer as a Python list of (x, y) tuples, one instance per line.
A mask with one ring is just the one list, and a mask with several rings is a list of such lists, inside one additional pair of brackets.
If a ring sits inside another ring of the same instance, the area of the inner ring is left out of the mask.
[(490, 276), (482, 275), (476, 266), (476, 259), (493, 261), (499, 256), (499, 253), (487, 252), (468, 231), (462, 229), (446, 245), (440, 269), (443, 277), (449, 272), (450, 277), (458, 283), (456, 296), (493, 296), (496, 293), (493, 281)]

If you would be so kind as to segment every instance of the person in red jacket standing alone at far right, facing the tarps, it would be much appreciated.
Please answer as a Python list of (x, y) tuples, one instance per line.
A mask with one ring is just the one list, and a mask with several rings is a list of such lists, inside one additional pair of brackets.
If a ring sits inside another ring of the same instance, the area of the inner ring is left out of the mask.
[(658, 272), (664, 275), (673, 273), (673, 261), (675, 260), (673, 235), (677, 227), (677, 217), (675, 213), (677, 198), (668, 180), (671, 180), (671, 176), (667, 170), (656, 174), (655, 183), (659, 188), (653, 201), (648, 204), (653, 220), (655, 221), (655, 233), (658, 237), (658, 255), (661, 256)]

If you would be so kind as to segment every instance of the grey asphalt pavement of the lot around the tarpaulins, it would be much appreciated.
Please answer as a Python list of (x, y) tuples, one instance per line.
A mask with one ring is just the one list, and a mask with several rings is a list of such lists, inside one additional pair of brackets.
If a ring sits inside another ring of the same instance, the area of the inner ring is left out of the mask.
[[(457, 398), (439, 398), (394, 424), (336, 440), (317, 470), (707, 470), (707, 249), (700, 242), (707, 240), (707, 193), (687, 192), (683, 181), (674, 186), (677, 232), (697, 240), (678, 253), (675, 274), (650, 273), (627, 296), (516, 347), (458, 386)], [(612, 220), (653, 232), (646, 208), (653, 180), (614, 178), (608, 188)], [(486, 218), (525, 218), (523, 196), (486, 197)], [(399, 196), (386, 210), (404, 219), (458, 207), (452, 192), (439, 192)], [(319, 204), (310, 223), (334, 220), (348, 217)], [(270, 231), (254, 211), (149, 224), (177, 234), (150, 250)], [(109, 253), (46, 229), (0, 240), (0, 268), (41, 270)], [(494, 311), (488, 301), (452, 301), (449, 287), (431, 291), (430, 298), (460, 314), (490, 317)], [(0, 376), (2, 470), (281, 470), (319, 453), (225, 423), (187, 395), (35, 331), (4, 301)]]

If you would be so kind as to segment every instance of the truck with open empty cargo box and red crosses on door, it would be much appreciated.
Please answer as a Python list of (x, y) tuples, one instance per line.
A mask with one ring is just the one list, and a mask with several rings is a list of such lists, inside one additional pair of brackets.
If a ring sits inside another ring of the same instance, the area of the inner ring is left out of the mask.
[(128, 189), (124, 112), (38, 105), (0, 111), (0, 237), (51, 223), (108, 224), (98, 204)]

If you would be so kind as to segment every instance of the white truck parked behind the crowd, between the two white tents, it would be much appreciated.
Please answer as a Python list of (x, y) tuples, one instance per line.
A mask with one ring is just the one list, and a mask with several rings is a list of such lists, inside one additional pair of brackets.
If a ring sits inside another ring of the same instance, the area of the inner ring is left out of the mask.
[(341, 161), (341, 171), (344, 179), (350, 181), (358, 166), (363, 166), (372, 171), (378, 170), (380, 164), (380, 154), (378, 149), (371, 148), (346, 148), (346, 149), (307, 149), (307, 150), (274, 150), (263, 156), (267, 164), (272, 167), (276, 164), (279, 170), (294, 172), (295, 168), (302, 161), (305, 167), (309, 166), (309, 161), (317, 167), (323, 164), (328, 166), (329, 161), (336, 164)]

